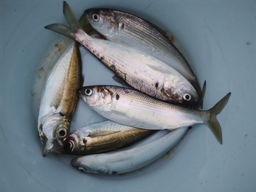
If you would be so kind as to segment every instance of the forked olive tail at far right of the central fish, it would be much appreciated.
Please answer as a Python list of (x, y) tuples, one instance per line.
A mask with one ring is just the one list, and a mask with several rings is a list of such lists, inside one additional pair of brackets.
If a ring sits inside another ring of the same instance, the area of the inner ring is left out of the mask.
[(227, 93), (226, 96), (222, 98), (214, 107), (208, 110), (210, 116), (208, 121), (205, 123), (210, 128), (211, 132), (214, 134), (214, 136), (216, 137), (220, 144), (222, 144), (222, 132), (221, 126), (216, 118), (216, 115), (218, 115), (226, 106), (230, 95), (231, 92)]

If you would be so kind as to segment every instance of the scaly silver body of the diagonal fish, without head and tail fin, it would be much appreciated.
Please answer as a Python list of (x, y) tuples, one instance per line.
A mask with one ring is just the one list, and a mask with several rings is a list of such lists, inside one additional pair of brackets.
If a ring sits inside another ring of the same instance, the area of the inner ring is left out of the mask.
[[(164, 77), (171, 74), (163, 74), (161, 71), (154, 70), (148, 65), (155, 66), (156, 68), (161, 67), (166, 71), (172, 71), (172, 75), (175, 76), (174, 79), (181, 79), (182, 82), (187, 82), (177, 71), (144, 52), (140, 53), (139, 50), (131, 47), (123, 47), (121, 44), (94, 39), (90, 36), (87, 37), (87, 40), (81, 40), (86, 37), (84, 32), (81, 33), (82, 35), (76, 35), (76, 39), (79, 39), (89, 51), (132, 87), (152, 97), (164, 101), (172, 101), (155, 88), (156, 82), (159, 82), (161, 85), (159, 87), (163, 87)], [(190, 83), (187, 82), (187, 84)], [(194, 95), (196, 95), (196, 92), (194, 92)]]

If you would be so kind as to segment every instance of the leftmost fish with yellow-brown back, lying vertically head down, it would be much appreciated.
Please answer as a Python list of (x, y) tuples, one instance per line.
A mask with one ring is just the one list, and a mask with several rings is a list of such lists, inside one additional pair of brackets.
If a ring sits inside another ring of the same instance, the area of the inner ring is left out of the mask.
[(78, 43), (74, 42), (51, 69), (42, 93), (38, 132), (43, 156), (48, 152), (62, 151), (63, 143), (69, 136), (80, 80), (80, 51)]

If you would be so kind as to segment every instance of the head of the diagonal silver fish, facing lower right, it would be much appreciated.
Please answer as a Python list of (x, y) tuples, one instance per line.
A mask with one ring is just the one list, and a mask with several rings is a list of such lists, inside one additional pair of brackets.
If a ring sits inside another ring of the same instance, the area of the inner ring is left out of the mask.
[(169, 75), (166, 77), (163, 90), (167, 97), (176, 103), (189, 106), (199, 103), (196, 89), (188, 81), (183, 81), (176, 76)]

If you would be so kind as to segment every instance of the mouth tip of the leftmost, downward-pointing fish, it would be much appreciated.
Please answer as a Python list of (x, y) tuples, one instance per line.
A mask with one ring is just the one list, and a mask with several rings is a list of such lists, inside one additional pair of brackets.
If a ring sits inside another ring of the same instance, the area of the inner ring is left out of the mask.
[(42, 156), (45, 157), (49, 152), (60, 153), (62, 146), (56, 140), (49, 140), (46, 136), (42, 139)]

